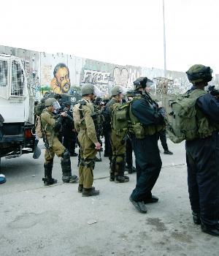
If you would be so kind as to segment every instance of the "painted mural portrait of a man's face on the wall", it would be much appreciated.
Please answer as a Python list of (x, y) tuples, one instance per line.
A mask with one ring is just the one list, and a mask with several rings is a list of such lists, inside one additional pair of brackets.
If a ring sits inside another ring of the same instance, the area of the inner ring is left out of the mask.
[(64, 63), (59, 63), (53, 71), (54, 78), (51, 80), (50, 86), (55, 94), (67, 94), (71, 83), (69, 79), (69, 68)]

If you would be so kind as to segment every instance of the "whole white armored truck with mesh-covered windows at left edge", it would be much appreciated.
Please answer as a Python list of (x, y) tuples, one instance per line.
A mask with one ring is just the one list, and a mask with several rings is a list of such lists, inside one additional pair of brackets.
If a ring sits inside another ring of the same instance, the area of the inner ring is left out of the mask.
[(33, 127), (34, 95), (23, 61), (0, 54), (0, 164), (1, 157), (34, 152)]

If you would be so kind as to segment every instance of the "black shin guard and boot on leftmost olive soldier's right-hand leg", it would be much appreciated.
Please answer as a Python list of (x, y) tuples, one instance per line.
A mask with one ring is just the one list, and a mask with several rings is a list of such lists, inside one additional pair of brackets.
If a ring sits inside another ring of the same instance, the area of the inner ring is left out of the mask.
[(64, 151), (64, 154), (62, 154), (61, 170), (62, 170), (62, 181), (64, 183), (78, 181), (78, 177), (76, 175), (72, 176), (72, 168), (71, 168), (69, 151)]

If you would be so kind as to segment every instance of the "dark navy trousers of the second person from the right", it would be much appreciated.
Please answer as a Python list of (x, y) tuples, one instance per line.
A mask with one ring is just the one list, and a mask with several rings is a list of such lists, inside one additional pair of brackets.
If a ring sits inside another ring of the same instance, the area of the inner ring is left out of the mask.
[(131, 197), (143, 201), (151, 197), (151, 190), (161, 172), (161, 157), (158, 149), (158, 135), (147, 135), (138, 140), (133, 135), (131, 143), (134, 150), (137, 169), (137, 184)]

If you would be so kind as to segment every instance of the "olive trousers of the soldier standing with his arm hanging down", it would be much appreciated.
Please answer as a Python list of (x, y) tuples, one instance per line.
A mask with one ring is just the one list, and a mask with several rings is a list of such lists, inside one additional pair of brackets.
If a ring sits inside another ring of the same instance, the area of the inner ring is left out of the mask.
[(79, 184), (85, 189), (91, 189), (96, 157), (95, 145), (88, 138), (86, 129), (80, 129), (77, 138), (80, 143)]

